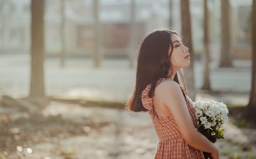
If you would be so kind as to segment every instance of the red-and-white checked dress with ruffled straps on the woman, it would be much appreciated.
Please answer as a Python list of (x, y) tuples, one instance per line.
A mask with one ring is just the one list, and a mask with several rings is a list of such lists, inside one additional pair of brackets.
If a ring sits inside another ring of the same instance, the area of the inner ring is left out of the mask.
[[(158, 86), (159, 83), (164, 80), (171, 79), (161, 78), (156, 83), (156, 86)], [(196, 127), (197, 120), (195, 117), (195, 107), (193, 102), (184, 93), (183, 87), (180, 85), (179, 87), (184, 95), (189, 114), (191, 115), (191, 119), (194, 123), (194, 126)], [(150, 88), (151, 84), (148, 85), (143, 91), (142, 103), (143, 106), (148, 110), (147, 113), (150, 114), (151, 121), (159, 138), (154, 159), (204, 159), (201, 150), (195, 149), (186, 143), (184, 138), (181, 136), (181, 133), (172, 115), (166, 117), (160, 117), (156, 115), (154, 111), (153, 98), (148, 97)]]

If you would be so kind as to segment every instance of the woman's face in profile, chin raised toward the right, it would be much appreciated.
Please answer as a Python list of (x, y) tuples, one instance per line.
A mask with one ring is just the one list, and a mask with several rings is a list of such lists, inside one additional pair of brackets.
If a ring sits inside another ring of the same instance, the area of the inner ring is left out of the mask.
[[(183, 45), (181, 39), (176, 34), (171, 34), (171, 41), (174, 46), (174, 51), (171, 54), (172, 69), (185, 68), (190, 64), (188, 48)], [(169, 51), (171, 52), (171, 46)]]

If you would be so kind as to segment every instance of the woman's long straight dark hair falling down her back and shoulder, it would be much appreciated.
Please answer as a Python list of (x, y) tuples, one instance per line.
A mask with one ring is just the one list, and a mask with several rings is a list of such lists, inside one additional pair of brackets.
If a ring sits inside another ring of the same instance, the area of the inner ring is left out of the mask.
[[(146, 112), (147, 109), (142, 104), (142, 92), (150, 85), (151, 89), (148, 97), (154, 96), (156, 82), (159, 78), (168, 78), (171, 67), (170, 57), (174, 49), (171, 41), (171, 35), (177, 34), (176, 31), (170, 29), (158, 29), (148, 34), (142, 41), (137, 57), (136, 85), (133, 96), (126, 104), (126, 108), (133, 112)], [(169, 49), (171, 46), (171, 52)], [(185, 89), (184, 77), (178, 70), (183, 86)], [(174, 81), (179, 83), (177, 73)], [(185, 90), (186, 92), (186, 90)]]

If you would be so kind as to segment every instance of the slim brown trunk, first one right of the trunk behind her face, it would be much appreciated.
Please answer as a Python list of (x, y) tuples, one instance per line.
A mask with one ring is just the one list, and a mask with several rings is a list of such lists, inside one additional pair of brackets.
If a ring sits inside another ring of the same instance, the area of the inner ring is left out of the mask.
[(210, 78), (209, 78), (209, 11), (207, 7), (207, 0), (204, 0), (204, 37), (203, 37), (203, 63), (204, 63), (204, 76), (202, 89), (210, 90)]

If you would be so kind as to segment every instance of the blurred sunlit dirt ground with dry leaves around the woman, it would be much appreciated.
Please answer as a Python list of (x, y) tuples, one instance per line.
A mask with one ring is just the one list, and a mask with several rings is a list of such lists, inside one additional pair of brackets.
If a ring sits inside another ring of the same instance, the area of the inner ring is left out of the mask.
[[(43, 115), (1, 115), (0, 122), (2, 159), (146, 159), (158, 143), (150, 116), (123, 108), (51, 102)], [(224, 128), (220, 158), (256, 158), (256, 128), (232, 116)]]

